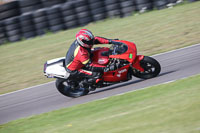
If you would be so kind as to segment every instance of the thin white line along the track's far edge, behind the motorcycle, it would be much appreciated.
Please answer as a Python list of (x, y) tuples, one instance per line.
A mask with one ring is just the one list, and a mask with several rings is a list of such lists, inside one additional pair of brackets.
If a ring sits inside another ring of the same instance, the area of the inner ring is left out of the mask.
[[(167, 52), (164, 52), (164, 53), (155, 54), (155, 55), (152, 55), (152, 57), (163, 55), (163, 54), (172, 53), (172, 52), (175, 52), (175, 51), (179, 51), (179, 50), (195, 47), (195, 46), (198, 46), (198, 45), (200, 45), (200, 43), (194, 44), (194, 45), (191, 45), (191, 46), (187, 46), (187, 47), (183, 47), (183, 48), (179, 48), (179, 49), (175, 49), (175, 50), (171, 50), (171, 51), (167, 51)], [(28, 88), (24, 88), (24, 89), (21, 89), (21, 90), (17, 90), (17, 91), (5, 93), (5, 94), (1, 94), (0, 97), (1, 96), (6, 96), (6, 95), (9, 95), (9, 94), (13, 94), (13, 93), (17, 93), (17, 92), (21, 92), (21, 91), (25, 91), (25, 90), (29, 90), (29, 89), (32, 89), (32, 88), (35, 88), (35, 87), (40, 87), (40, 86), (43, 86), (43, 85), (46, 85), (46, 84), (50, 84), (50, 83), (53, 83), (53, 82), (55, 82), (55, 81), (44, 83), (44, 84), (40, 84), (40, 85), (36, 85), (36, 86), (32, 86), (32, 87), (28, 87)]]

